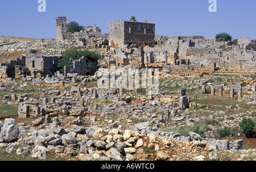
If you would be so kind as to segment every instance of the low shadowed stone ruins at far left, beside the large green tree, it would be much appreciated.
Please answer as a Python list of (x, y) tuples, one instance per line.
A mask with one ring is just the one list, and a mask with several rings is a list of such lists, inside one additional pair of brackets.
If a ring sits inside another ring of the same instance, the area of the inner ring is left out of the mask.
[[(13, 61), (1, 63), (0, 79), (23, 78), (32, 76), (34, 78), (49, 78), (59, 74), (58, 61), (62, 57), (46, 57), (43, 55), (30, 54), (22, 56)], [(97, 71), (97, 62), (92, 62), (86, 57), (73, 61), (73, 66), (65, 66), (65, 76), (67, 74), (91, 75)]]

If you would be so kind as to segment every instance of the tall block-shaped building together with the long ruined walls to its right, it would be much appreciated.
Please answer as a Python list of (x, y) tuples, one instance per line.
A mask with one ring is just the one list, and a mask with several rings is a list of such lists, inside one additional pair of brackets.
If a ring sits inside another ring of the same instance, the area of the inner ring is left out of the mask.
[[(109, 21), (110, 49), (116, 53), (112, 59), (114, 63), (117, 66), (160, 67), (164, 72), (184, 76), (209, 75), (213, 71), (256, 72), (256, 40), (242, 37), (224, 42), (203, 36), (155, 36), (154, 29), (154, 23), (139, 23), (133, 16), (130, 21)], [(148, 40), (146, 44), (144, 40)], [(136, 47), (131, 48), (135, 44)]]

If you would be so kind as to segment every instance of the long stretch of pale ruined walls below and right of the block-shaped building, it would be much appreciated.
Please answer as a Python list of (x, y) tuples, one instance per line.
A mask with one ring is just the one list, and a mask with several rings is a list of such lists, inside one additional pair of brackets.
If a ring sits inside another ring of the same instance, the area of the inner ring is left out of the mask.
[(220, 42), (203, 36), (156, 36), (154, 48), (145, 46), (143, 53), (136, 49), (116, 48), (115, 57), (118, 57), (119, 64), (122, 64), (122, 59), (126, 59), (126, 64), (143, 59), (145, 67), (162, 67), (171, 74), (253, 73), (256, 72), (255, 49), (256, 41), (246, 37)]

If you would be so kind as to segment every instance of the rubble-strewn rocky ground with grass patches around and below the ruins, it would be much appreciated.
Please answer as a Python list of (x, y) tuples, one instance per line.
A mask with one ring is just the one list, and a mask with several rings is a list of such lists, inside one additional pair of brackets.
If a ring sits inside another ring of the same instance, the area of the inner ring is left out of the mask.
[[(55, 55), (67, 46), (54, 48), (54, 40), (0, 40), (1, 60), (7, 54), (15, 57), (17, 51), (26, 54), (31, 48)], [(256, 121), (254, 75), (160, 74), (159, 93), (150, 98), (144, 89), (121, 94), (119, 89), (97, 88), (101, 71), (76, 79), (53, 78), (64, 81), (63, 87), (44, 87), (46, 79), (0, 83), (0, 152), (5, 155), (0, 158), (38, 158), (45, 153), (46, 158), (53, 154), (73, 161), (256, 160), (255, 138), (243, 137), (239, 126), (243, 118)], [(212, 85), (222, 85), (222, 97), (210, 95)], [(230, 85), (242, 86), (241, 100), (229, 97)], [(74, 93), (73, 88), (79, 88), (81, 94)], [(185, 110), (179, 108), (177, 89), (181, 88), (187, 89), (193, 102)], [(93, 89), (97, 91), (95, 98)], [(13, 94), (17, 98), (13, 99)], [(26, 101), (39, 102), (45, 114), (18, 118), (18, 106)], [(230, 131), (225, 138), (219, 133), (224, 127)]]

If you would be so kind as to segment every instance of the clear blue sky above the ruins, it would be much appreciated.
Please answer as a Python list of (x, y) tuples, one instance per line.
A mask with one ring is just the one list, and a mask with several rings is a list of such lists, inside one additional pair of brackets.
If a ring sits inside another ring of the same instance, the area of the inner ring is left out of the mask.
[(209, 12), (209, 0), (46, 0), (46, 12), (39, 12), (38, 0), (0, 0), (0, 36), (56, 38), (58, 16), (108, 33), (109, 20), (135, 16), (155, 23), (156, 35), (210, 38), (226, 32), (256, 39), (255, 0), (216, 1), (217, 12)]

